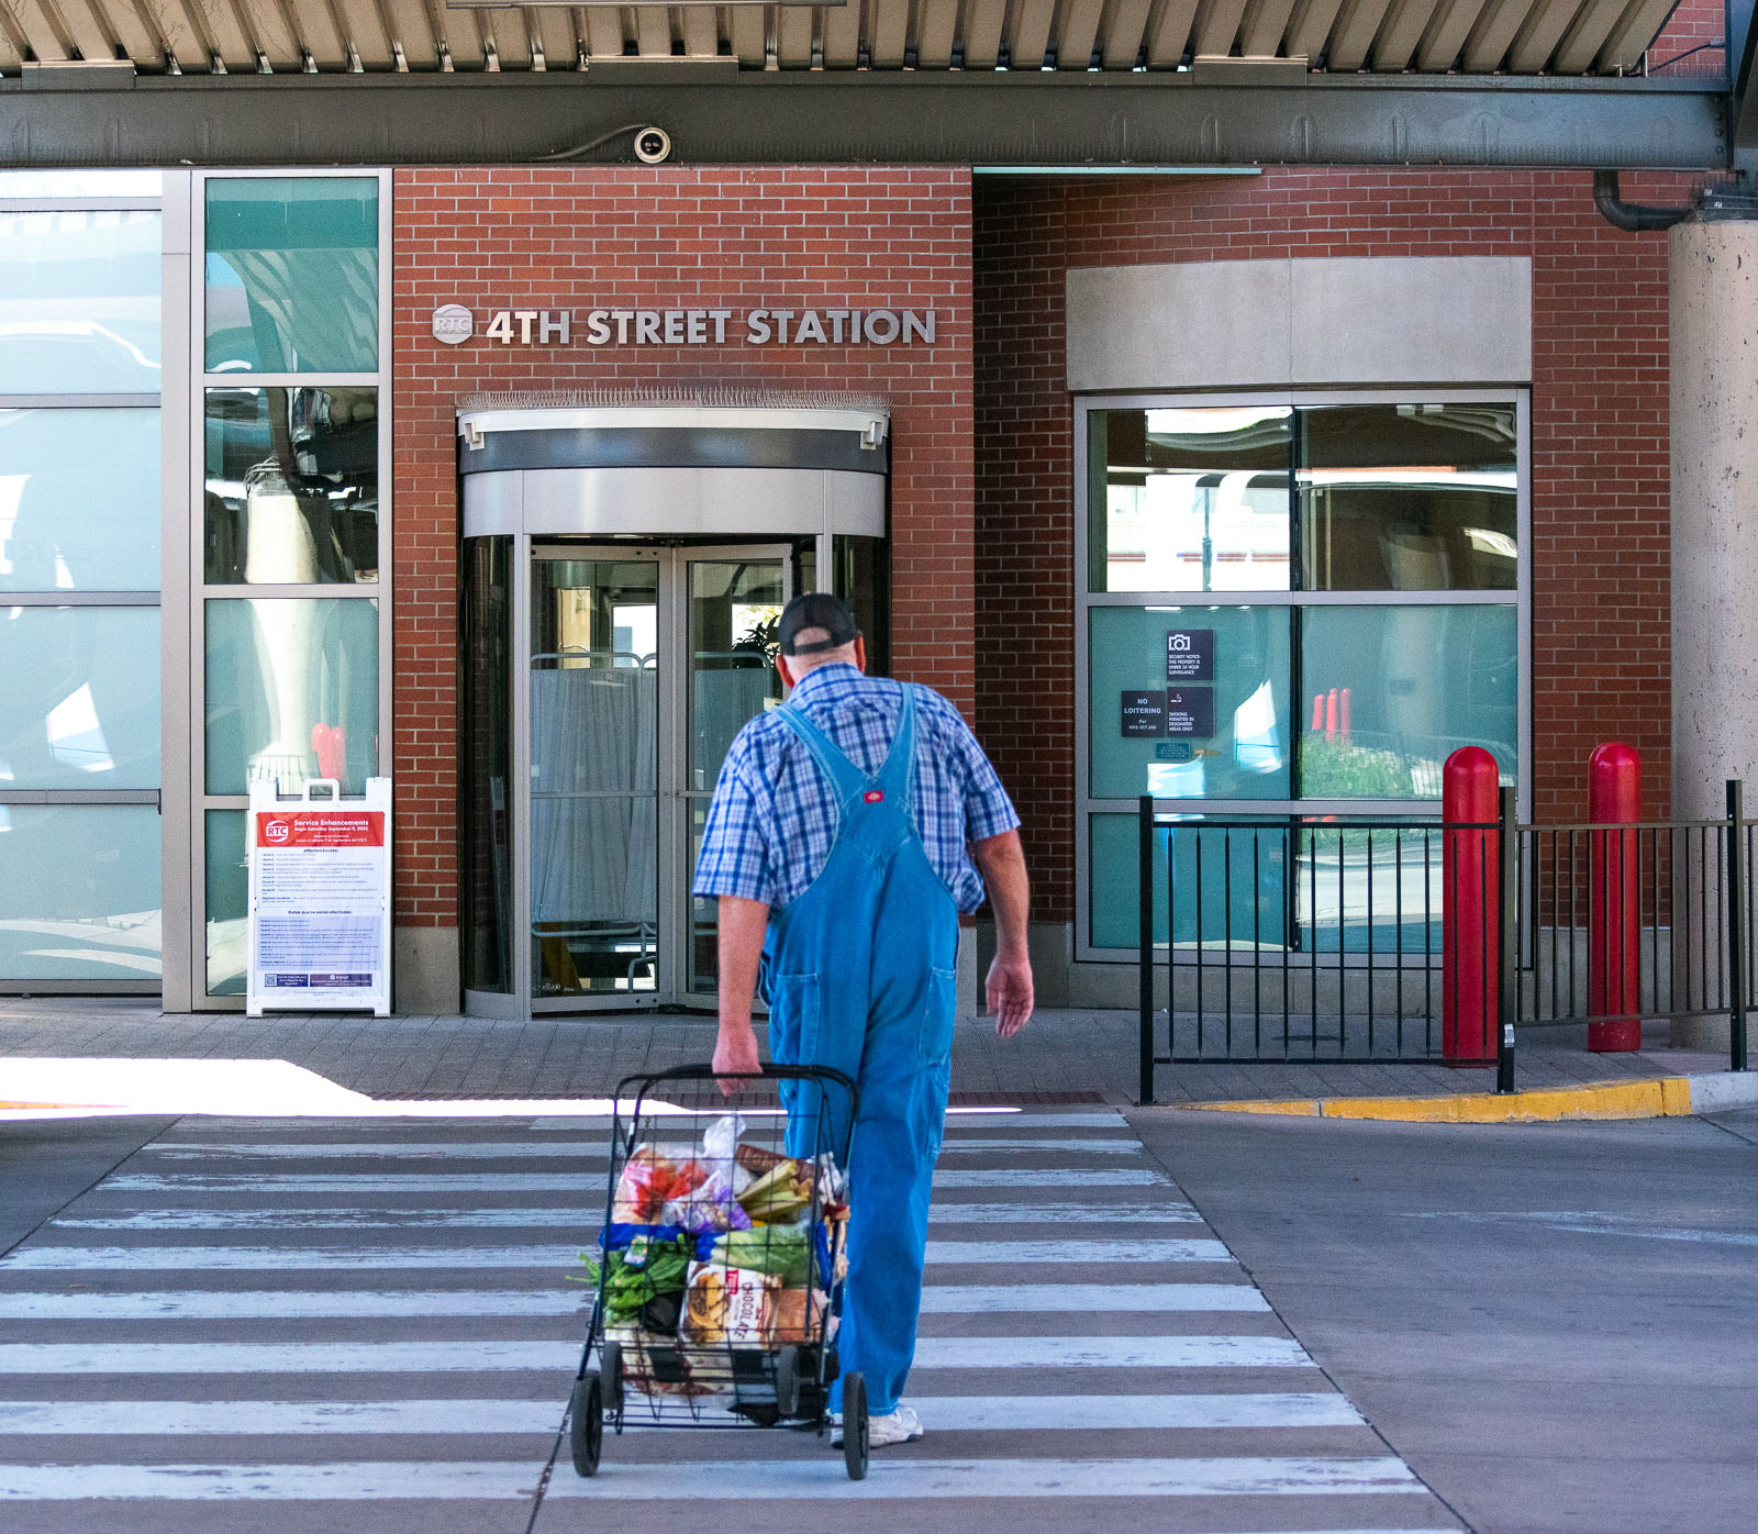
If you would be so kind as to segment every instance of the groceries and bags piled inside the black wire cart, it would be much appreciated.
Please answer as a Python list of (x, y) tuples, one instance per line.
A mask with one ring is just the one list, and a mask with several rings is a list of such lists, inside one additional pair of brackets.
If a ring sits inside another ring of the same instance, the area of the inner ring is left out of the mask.
[(828, 1150), (786, 1156), (759, 1133), (726, 1114), (694, 1143), (640, 1143), (622, 1161), (599, 1249), (605, 1339), (629, 1390), (737, 1409), (765, 1355), (835, 1335), (846, 1179)]

